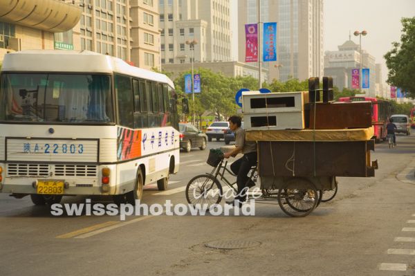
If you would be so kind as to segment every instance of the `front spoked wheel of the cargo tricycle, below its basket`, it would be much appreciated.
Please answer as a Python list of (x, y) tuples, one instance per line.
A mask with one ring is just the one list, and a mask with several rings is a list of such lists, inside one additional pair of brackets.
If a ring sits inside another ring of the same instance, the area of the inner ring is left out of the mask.
[(207, 210), (222, 199), (222, 186), (212, 174), (201, 174), (190, 179), (186, 186), (187, 202)]

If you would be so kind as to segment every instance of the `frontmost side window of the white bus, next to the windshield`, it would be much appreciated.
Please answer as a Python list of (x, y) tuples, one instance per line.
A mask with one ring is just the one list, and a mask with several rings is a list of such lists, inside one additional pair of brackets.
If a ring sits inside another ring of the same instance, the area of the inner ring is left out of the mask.
[(133, 128), (133, 89), (130, 77), (116, 75), (116, 93), (119, 124)]

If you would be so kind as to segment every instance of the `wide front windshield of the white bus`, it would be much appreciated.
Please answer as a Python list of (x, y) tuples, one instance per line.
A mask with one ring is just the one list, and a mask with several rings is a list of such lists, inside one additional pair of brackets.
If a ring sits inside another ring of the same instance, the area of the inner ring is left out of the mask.
[(6, 122), (114, 122), (109, 75), (3, 73), (0, 101)]

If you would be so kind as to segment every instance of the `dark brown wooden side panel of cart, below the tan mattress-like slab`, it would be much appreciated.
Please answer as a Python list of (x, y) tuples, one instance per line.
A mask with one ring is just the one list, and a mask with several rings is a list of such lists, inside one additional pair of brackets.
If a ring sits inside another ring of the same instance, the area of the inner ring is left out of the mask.
[(261, 176), (374, 176), (367, 141), (259, 141), (258, 149)]

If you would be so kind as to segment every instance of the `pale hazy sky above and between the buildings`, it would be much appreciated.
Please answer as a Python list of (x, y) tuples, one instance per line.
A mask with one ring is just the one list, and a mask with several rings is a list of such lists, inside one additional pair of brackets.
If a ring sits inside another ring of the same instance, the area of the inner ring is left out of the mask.
[[(237, 0), (230, 1), (231, 12), (237, 12)], [(392, 49), (392, 42), (400, 41), (402, 17), (415, 17), (415, 0), (324, 0), (324, 50), (338, 50), (339, 45), (349, 40), (349, 31), (351, 40), (359, 44), (359, 37), (353, 32), (366, 30), (362, 50), (382, 64), (382, 81), (386, 82), (383, 55)], [(231, 18), (232, 44), (237, 45), (237, 16), (231, 14)], [(232, 56), (237, 59), (237, 49)]]

